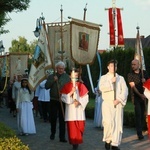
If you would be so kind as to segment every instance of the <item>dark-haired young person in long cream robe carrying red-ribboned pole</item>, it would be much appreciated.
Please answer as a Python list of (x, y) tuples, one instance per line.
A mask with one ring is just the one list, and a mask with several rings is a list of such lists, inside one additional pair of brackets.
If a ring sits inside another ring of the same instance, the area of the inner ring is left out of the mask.
[(107, 63), (108, 72), (101, 76), (103, 142), (106, 150), (120, 150), (123, 133), (123, 109), (127, 102), (128, 88), (123, 76), (116, 73), (117, 61)]

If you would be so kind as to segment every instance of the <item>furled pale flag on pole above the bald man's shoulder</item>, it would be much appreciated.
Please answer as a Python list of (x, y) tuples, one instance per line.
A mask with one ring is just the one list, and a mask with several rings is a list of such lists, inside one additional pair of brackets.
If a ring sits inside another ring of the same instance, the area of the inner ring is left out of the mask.
[(137, 27), (134, 59), (139, 60), (141, 70), (146, 70), (139, 28)]

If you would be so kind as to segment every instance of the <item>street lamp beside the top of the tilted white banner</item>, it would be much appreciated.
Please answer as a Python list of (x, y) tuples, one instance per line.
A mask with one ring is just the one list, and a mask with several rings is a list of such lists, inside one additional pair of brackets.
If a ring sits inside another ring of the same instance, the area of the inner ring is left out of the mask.
[(44, 20), (45, 20), (45, 18), (44, 18), (43, 13), (42, 13), (42, 16), (39, 17), (36, 20), (36, 28), (35, 28), (35, 31), (33, 31), (35, 37), (39, 37), (40, 36), (40, 30), (41, 30), (41, 26), (42, 26), (42, 21), (44, 21)]

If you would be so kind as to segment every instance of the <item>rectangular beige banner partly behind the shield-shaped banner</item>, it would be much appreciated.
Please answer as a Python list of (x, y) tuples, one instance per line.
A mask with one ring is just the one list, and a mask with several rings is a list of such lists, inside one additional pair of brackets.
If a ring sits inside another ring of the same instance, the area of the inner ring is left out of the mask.
[(69, 67), (74, 65), (70, 54), (70, 24), (50, 23), (47, 28), (53, 62), (63, 61)]

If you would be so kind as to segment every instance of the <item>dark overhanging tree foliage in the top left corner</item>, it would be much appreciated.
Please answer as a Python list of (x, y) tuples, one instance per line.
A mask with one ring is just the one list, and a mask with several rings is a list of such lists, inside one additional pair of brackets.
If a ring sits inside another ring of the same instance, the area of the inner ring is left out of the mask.
[(0, 0), (0, 34), (9, 32), (4, 29), (4, 25), (10, 21), (6, 14), (27, 10), (29, 3), (30, 0)]

